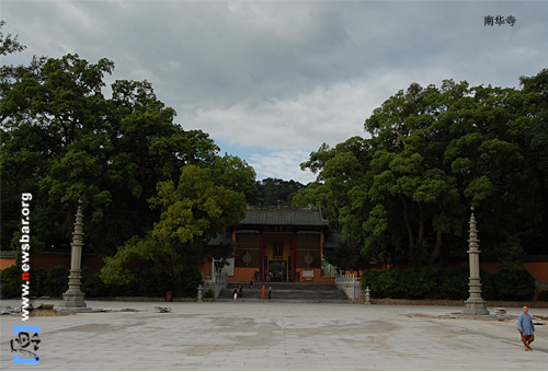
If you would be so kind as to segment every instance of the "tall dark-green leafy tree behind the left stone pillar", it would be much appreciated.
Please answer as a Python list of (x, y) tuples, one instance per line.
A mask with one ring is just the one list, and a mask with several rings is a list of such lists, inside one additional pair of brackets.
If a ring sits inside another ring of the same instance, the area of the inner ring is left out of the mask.
[(34, 58), (2, 84), (2, 236), (18, 230), (20, 194), (32, 193), (34, 248), (68, 247), (81, 198), (87, 247), (112, 255), (158, 220), (147, 201), (158, 182), (214, 162), (213, 140), (174, 124), (150, 83), (116, 81), (105, 97), (113, 69), (77, 55)]

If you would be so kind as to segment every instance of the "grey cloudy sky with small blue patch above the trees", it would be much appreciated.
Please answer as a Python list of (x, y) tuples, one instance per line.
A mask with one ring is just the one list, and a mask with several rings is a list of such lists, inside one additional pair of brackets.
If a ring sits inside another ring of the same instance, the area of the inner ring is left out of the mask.
[(27, 46), (2, 63), (106, 57), (109, 82), (150, 81), (176, 123), (258, 179), (312, 181), (299, 167), (311, 151), (366, 136), (372, 111), (412, 82), (518, 86), (548, 67), (546, 1), (0, 0), (0, 14)]

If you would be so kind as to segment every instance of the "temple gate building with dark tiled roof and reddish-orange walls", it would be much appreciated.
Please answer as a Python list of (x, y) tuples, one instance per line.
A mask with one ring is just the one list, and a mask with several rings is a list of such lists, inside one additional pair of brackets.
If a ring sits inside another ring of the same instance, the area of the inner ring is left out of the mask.
[[(332, 282), (334, 268), (323, 254), (338, 239), (319, 208), (248, 207), (227, 235), (233, 251), (221, 272), (229, 281)], [(214, 265), (201, 265), (202, 272), (212, 275)]]

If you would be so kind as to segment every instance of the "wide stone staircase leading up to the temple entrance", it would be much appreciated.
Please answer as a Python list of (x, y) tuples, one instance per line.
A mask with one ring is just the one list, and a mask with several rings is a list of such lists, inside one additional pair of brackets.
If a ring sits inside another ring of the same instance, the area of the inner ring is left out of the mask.
[(344, 291), (338, 289), (334, 283), (294, 283), (294, 282), (253, 282), (253, 289), (249, 282), (231, 281), (224, 288), (215, 301), (233, 301), (235, 287), (243, 287), (242, 295), (238, 291), (238, 302), (260, 302), (261, 288), (266, 287), (266, 300), (269, 301), (269, 286), (272, 286), (271, 302), (305, 302), (305, 303), (347, 303), (349, 298)]

